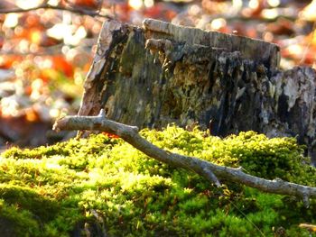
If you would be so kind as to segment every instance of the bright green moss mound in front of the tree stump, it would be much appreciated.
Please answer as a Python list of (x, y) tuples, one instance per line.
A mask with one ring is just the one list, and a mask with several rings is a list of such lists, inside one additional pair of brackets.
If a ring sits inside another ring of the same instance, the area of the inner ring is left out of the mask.
[[(141, 133), (172, 152), (316, 186), (294, 139), (220, 139), (174, 126)], [(290, 196), (213, 187), (103, 134), (0, 158), (1, 236), (310, 236), (300, 223), (316, 223), (315, 200), (306, 209)]]

